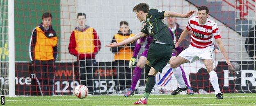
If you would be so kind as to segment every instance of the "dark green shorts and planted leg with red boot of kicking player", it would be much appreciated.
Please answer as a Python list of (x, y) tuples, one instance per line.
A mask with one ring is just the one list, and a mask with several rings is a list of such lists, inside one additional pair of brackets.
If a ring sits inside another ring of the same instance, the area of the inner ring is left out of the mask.
[(147, 98), (155, 86), (155, 75), (158, 72), (162, 73), (162, 69), (171, 59), (172, 50), (166, 48), (172, 48), (172, 46), (169, 44), (158, 44), (154, 42), (150, 44), (147, 60), (149, 60), (149, 64), (152, 67), (150, 68), (149, 75), (147, 77), (145, 93), (141, 99), (133, 104), (147, 104)]

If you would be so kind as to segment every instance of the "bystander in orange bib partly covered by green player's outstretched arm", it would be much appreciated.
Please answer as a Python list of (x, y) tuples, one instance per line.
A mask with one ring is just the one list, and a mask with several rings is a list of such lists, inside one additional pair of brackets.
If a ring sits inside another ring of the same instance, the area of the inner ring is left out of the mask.
[[(123, 40), (134, 36), (134, 34), (132, 33), (132, 31), (129, 29), (128, 26), (129, 26), (128, 22), (126, 21), (120, 22), (120, 30), (117, 32), (117, 34), (114, 35), (112, 39), (112, 43), (122, 42)], [(112, 53), (115, 53), (114, 64), (115, 66), (117, 66), (116, 69), (118, 73), (117, 83), (119, 83), (119, 88), (116, 89), (117, 91), (126, 90), (126, 88), (131, 85), (132, 69), (129, 68), (129, 62), (130, 62), (130, 59), (133, 57), (134, 46), (135, 46), (135, 42), (126, 44), (123, 46), (111, 48)]]

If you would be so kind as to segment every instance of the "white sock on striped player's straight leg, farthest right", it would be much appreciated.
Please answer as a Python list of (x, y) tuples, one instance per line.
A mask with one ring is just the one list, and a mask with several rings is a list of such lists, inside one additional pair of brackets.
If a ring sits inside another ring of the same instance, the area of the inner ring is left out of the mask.
[(215, 71), (210, 71), (209, 75), (210, 75), (209, 80), (210, 80), (210, 82), (213, 86), (213, 89), (215, 91), (215, 95), (217, 95), (218, 93), (220, 93), (217, 73)]

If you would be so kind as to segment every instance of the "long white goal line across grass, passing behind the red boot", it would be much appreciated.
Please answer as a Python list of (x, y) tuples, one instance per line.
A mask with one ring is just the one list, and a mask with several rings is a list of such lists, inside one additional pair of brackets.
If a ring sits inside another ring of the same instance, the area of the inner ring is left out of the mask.
[[(256, 97), (256, 96), (227, 96), (224, 98), (233, 98), (233, 97)], [(149, 99), (200, 99), (200, 98), (216, 98), (216, 97), (172, 97), (172, 98), (149, 98)], [(95, 98), (95, 99), (22, 99), (22, 100), (5, 100), (8, 102), (12, 101), (55, 101), (55, 100), (108, 100), (109, 98)], [(138, 99), (138, 98), (112, 98), (115, 100), (121, 100), (121, 99)]]

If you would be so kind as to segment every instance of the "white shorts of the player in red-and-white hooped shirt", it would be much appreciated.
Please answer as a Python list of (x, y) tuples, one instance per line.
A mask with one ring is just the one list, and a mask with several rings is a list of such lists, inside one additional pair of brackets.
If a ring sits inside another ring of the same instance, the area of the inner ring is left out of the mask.
[(184, 51), (182, 51), (179, 54), (179, 56), (190, 61), (190, 63), (200, 60), (200, 62), (203, 64), (202, 59), (203, 60), (206, 60), (206, 59), (213, 60), (213, 50), (214, 50), (214, 46), (208, 46), (206, 48), (199, 49), (190, 44), (187, 47), (187, 49), (185, 49)]

